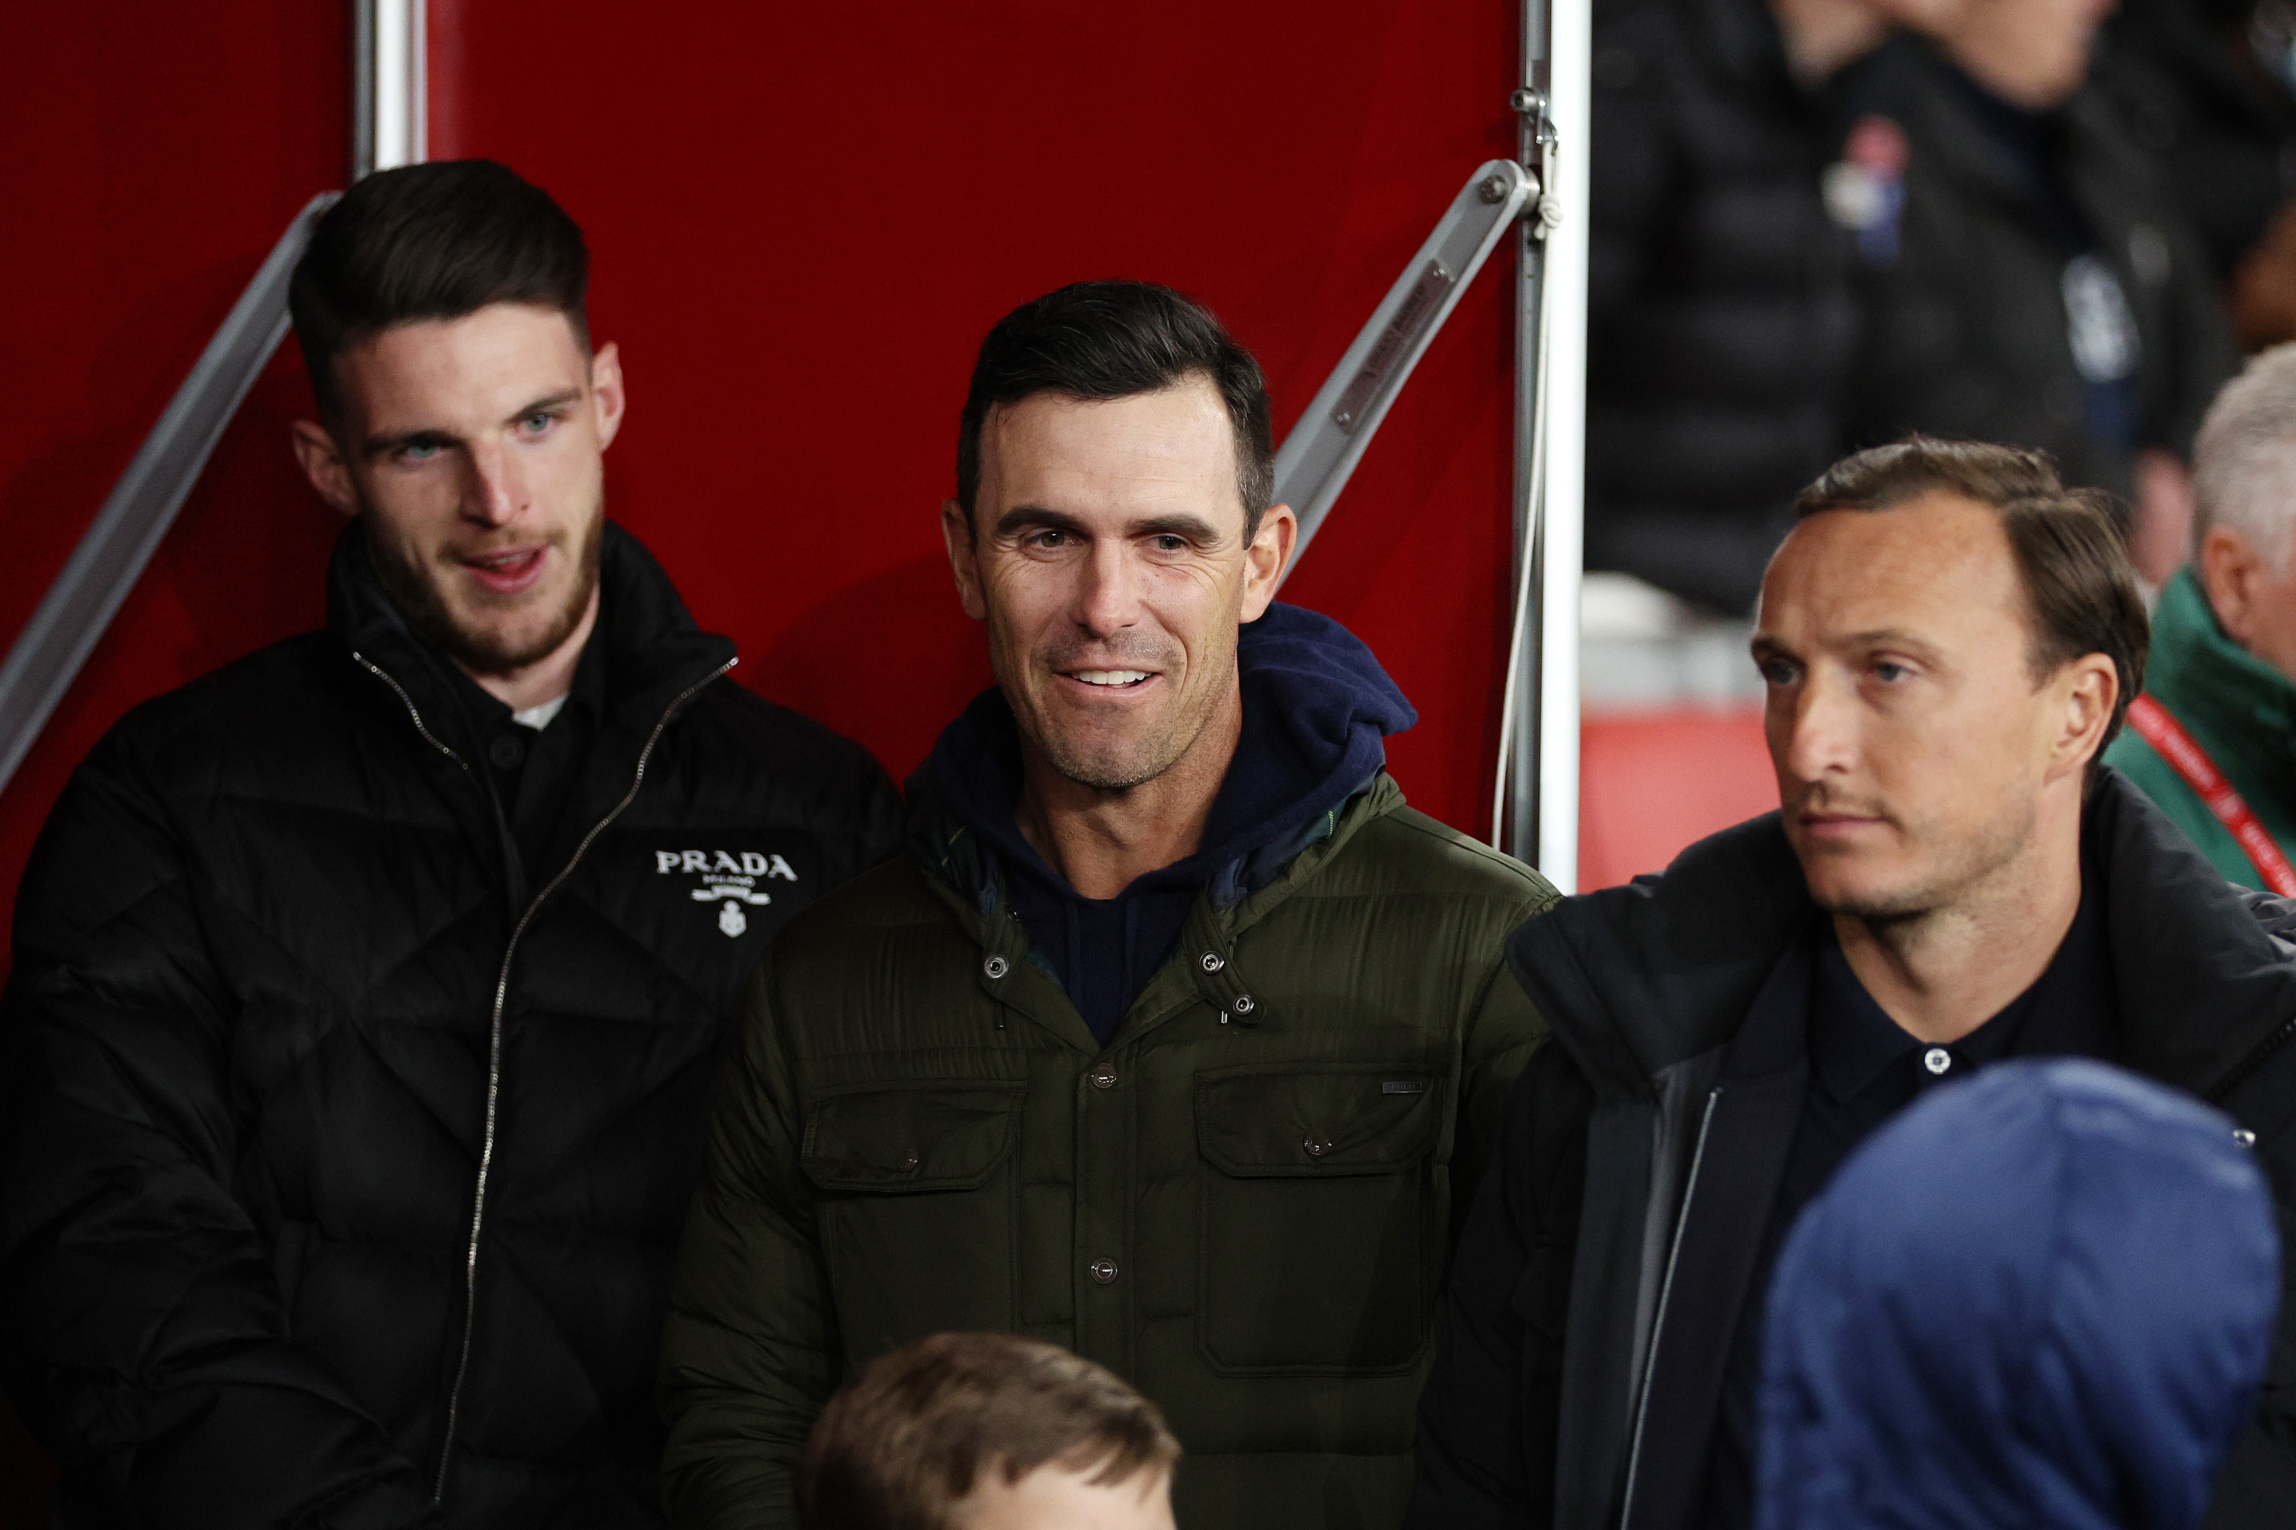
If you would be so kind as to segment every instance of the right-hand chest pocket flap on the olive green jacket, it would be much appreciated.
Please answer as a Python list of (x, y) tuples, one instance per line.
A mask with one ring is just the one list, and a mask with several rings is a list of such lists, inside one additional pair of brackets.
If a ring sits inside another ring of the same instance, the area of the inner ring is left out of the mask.
[(1249, 1067), (1196, 1078), (1196, 1147), (1240, 1179), (1391, 1174), (1435, 1145), (1442, 1074)]

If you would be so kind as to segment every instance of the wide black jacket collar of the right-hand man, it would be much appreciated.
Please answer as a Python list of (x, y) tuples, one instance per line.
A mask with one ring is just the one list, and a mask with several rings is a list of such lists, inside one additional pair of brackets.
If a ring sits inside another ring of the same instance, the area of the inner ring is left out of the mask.
[[(2296, 952), (2268, 931), (2285, 906), (2232, 888), (2119, 771), (2099, 773), (2082, 835), (2103, 879), (2122, 1062), (2220, 1099), (2296, 1023)], [(1662, 876), (1564, 899), (1508, 938), (1508, 963), (1598, 1096), (1649, 1099), (1660, 1071), (1738, 1035), (1812, 918), (1770, 812)]]

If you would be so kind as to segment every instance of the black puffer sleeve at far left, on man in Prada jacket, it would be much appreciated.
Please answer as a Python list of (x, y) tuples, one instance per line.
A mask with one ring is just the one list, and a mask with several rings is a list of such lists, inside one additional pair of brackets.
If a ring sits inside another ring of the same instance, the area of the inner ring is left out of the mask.
[(0, 1000), (7, 1390), (67, 1486), (108, 1498), (106, 1519), (418, 1523), (422, 1473), (296, 1349), (273, 1250), (234, 1195), (259, 1129), (227, 1085), (236, 1000), (147, 780), (115, 732), (16, 899)]

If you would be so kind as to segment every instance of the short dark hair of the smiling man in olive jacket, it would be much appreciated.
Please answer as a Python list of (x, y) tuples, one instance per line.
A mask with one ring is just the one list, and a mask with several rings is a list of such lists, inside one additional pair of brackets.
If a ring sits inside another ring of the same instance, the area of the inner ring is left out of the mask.
[(1054, 392), (1065, 399), (1130, 399), (1192, 376), (1219, 390), (1235, 427), (1235, 495), (1244, 541), (1274, 500), (1277, 450), (1267, 378), (1219, 319), (1155, 282), (1070, 282), (1022, 303), (980, 342), (957, 417), (957, 505), (974, 523), (980, 491), (980, 427), (990, 411)]

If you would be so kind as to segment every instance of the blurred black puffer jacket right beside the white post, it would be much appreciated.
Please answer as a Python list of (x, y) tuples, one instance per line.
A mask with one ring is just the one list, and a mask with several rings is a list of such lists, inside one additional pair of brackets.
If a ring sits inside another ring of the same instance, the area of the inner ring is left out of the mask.
[(1593, 71), (1587, 567), (1747, 610), (1839, 445), (1835, 145), (1761, 0), (1619, 5)]

